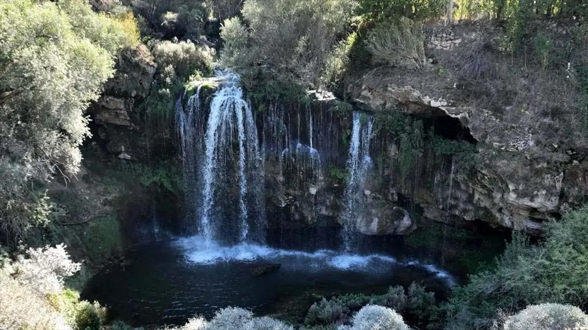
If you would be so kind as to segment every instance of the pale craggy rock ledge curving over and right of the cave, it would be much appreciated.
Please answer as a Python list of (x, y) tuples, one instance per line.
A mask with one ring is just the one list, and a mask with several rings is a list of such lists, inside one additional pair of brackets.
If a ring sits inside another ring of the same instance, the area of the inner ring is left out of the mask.
[(496, 111), (425, 94), (403, 85), (401, 78), (363, 79), (350, 86), (349, 92), (356, 102), (375, 112), (459, 120), (476, 140), (478, 155), (472, 176), (455, 177), (455, 182), (452, 177), (451, 191), (441, 194), (445, 197), (431, 187), (413, 194), (415, 203), (433, 220), (485, 220), (537, 234), (542, 230), (541, 221), (577, 206), (588, 194), (583, 139), (567, 150), (557, 143), (545, 143), (550, 139), (547, 132), (536, 130), (530, 122), (508, 122)]

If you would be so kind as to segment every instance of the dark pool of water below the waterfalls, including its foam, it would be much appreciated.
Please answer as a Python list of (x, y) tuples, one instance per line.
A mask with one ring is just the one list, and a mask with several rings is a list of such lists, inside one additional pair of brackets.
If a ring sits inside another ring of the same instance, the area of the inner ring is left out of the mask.
[[(115, 319), (149, 327), (183, 324), (195, 314), (210, 318), (228, 306), (300, 319), (323, 296), (381, 294), (390, 285), (413, 281), (443, 298), (457, 281), (431, 262), (377, 251), (386, 250), (386, 245), (390, 249), (381, 239), (366, 241), (363, 254), (342, 254), (328, 249), (331, 235), (322, 241), (313, 235), (287, 233), (270, 242), (273, 248), (206, 246), (198, 237), (146, 244), (129, 251), (126, 258), (131, 264), (113, 265), (93, 277), (82, 298), (107, 305)], [(306, 248), (294, 250), (294, 241)], [(251, 273), (268, 262), (279, 263), (280, 270)]]

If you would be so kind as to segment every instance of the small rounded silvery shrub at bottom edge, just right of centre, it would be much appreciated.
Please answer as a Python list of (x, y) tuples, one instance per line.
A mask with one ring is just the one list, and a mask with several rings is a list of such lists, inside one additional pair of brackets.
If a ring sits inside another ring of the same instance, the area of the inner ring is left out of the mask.
[(391, 308), (367, 305), (353, 316), (351, 330), (409, 330), (402, 316)]

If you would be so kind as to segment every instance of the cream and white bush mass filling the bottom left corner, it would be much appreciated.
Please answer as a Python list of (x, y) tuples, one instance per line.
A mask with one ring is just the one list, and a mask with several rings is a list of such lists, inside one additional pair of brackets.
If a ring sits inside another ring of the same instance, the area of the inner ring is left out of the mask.
[[(64, 277), (78, 267), (62, 245), (26, 251), (0, 268), (1, 329), (96, 328), (96, 315), (105, 315), (97, 303), (79, 302), (79, 294), (63, 289)], [(69, 326), (68, 326), (69, 325)]]

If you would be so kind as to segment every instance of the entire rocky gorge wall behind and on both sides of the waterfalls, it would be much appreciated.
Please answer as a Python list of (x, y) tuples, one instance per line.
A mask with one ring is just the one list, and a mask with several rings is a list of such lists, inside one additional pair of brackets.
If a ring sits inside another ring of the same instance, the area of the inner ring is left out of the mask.
[[(136, 109), (155, 72), (147, 50), (130, 50), (119, 66), (91, 112), (106, 149), (143, 162), (153, 140), (181, 150), (175, 132), (153, 137), (141, 128), (144, 114)], [(362, 151), (370, 168), (353, 206), (363, 234), (409, 234), (426, 219), (486, 221), (540, 234), (542, 221), (586, 200), (588, 146), (581, 131), (566, 132), (564, 124), (538, 116), (532, 103), (510, 100), (497, 109), (463, 97), (466, 87), (456, 77), (441, 79), (435, 70), (419, 75), (383, 68), (349, 84), (349, 102), (310, 91), (310, 103), (254, 111), (269, 227), (343, 223), (354, 112), (363, 123), (374, 120)], [(203, 107), (210, 94), (199, 100)]]

